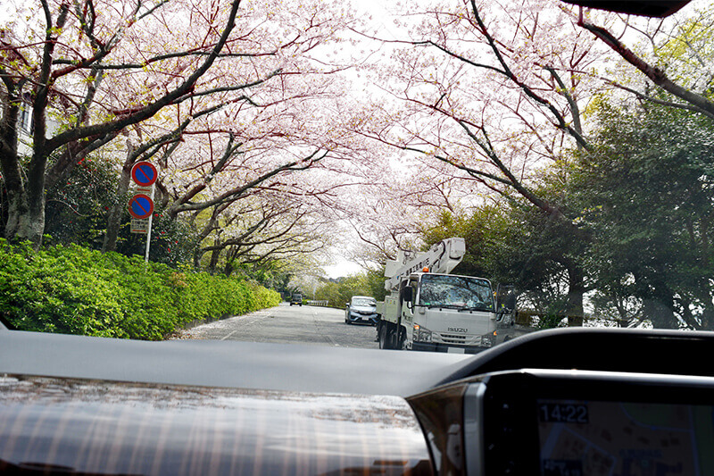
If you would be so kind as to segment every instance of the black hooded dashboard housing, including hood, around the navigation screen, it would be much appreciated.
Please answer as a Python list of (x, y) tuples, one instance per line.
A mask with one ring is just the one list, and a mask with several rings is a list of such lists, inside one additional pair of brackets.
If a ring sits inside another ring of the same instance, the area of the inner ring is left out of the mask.
[[(700, 455), (714, 454), (712, 349), (714, 334), (709, 332), (541, 331), (476, 355), (444, 376), (443, 386), (408, 401), (427, 432), (436, 468), (444, 473), (650, 474), (650, 469), (635, 471), (643, 469), (635, 468), (635, 459), (651, 461), (652, 474), (689, 474), (687, 470), (695, 464), (700, 469), (711, 468), (711, 472), (692, 473), (714, 473), (714, 458), (698, 462)], [(699, 440), (696, 455), (674, 457), (677, 438), (662, 443), (659, 434), (634, 432), (635, 440), (644, 439), (631, 443), (627, 435), (618, 434), (619, 428), (607, 428), (631, 426), (623, 420), (623, 413), (618, 413), (620, 405), (634, 405), (640, 412), (642, 405), (660, 405), (660, 413), (691, 412), (703, 423), (699, 430), (710, 432), (711, 437)], [(539, 412), (544, 410), (550, 410), (550, 422), (539, 420)], [(569, 422), (571, 413), (575, 422)], [(619, 420), (610, 418), (617, 414)], [(599, 427), (606, 432), (603, 438), (619, 438), (616, 444), (621, 446), (610, 460), (607, 452), (591, 452), (594, 456), (584, 456), (581, 461), (573, 456), (573, 448), (570, 453), (563, 449), (568, 444), (577, 447), (583, 440), (577, 436), (558, 445), (553, 443), (557, 439), (552, 439), (550, 446), (544, 442), (553, 425), (562, 430), (577, 424), (577, 418), (592, 417), (591, 427), (595, 428), (592, 423), (602, 420), (602, 415), (610, 418)], [(557, 422), (558, 418), (564, 420)], [(608, 471), (593, 471), (594, 462)], [(612, 471), (616, 464), (621, 472)]]

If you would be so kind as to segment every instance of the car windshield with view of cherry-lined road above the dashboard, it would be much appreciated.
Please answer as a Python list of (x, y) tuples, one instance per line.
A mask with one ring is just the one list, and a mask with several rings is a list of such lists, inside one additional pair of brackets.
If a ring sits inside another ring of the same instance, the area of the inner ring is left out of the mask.
[(429, 273), (478, 342), (714, 330), (710, 2), (276, 5), (0, 2), (0, 320), (413, 348)]

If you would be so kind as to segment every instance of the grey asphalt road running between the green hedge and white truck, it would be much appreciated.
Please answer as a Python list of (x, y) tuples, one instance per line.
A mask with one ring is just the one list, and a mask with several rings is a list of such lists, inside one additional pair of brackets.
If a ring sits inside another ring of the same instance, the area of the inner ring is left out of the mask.
[(344, 310), (282, 303), (256, 313), (184, 330), (178, 338), (378, 348), (376, 337), (373, 326), (345, 324)]

